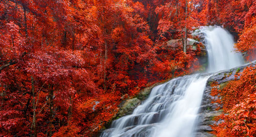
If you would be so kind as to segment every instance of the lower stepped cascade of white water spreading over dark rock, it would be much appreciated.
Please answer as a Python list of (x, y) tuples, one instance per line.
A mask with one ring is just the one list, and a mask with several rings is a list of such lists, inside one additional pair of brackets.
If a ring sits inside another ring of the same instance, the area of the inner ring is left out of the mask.
[(187, 75), (153, 88), (132, 115), (115, 120), (101, 136), (189, 136), (207, 78)]

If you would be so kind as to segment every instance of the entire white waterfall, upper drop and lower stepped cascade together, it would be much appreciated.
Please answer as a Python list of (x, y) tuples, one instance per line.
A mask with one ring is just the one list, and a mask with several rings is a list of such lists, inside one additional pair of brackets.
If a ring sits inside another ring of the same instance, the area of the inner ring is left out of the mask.
[[(242, 56), (233, 52), (232, 36), (227, 31), (218, 26), (201, 30), (206, 36), (209, 72), (242, 64)], [(104, 130), (100, 136), (193, 136), (209, 77), (207, 73), (186, 75), (154, 87), (132, 115), (113, 121), (111, 128)]]

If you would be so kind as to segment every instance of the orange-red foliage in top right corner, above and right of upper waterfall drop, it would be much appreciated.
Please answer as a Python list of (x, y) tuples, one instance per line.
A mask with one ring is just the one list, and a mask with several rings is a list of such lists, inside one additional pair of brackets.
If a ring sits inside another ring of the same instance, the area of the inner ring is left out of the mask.
[(207, 0), (201, 12), (205, 24), (223, 25), (238, 39), (236, 48), (247, 53), (246, 60), (256, 58), (256, 1), (254, 0)]

